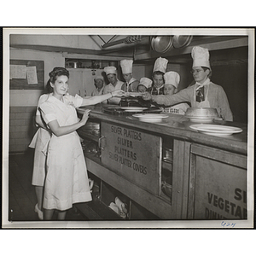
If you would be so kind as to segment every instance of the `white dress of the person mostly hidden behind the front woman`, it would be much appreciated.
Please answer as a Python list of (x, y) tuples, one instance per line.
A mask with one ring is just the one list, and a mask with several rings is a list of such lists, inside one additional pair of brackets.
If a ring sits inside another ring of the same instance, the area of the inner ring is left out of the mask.
[[(49, 97), (49, 94), (44, 94), (40, 96), (38, 100), (38, 107), (45, 102)], [(40, 115), (40, 112), (37, 108), (36, 115)], [(32, 185), (34, 186), (44, 186), (45, 178), (45, 163), (46, 155), (43, 152), (43, 149), (47, 143), (49, 143), (50, 133), (44, 128), (39, 127), (38, 131), (35, 133), (30, 143), (30, 148), (35, 148), (34, 153), (34, 163), (33, 163), (33, 173), (32, 173)]]

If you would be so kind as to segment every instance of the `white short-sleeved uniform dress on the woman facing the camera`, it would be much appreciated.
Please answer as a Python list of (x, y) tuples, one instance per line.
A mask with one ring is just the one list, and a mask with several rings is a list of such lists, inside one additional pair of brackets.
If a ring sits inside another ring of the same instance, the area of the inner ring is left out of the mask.
[[(49, 96), (40, 108), (46, 124), (57, 120), (60, 126), (78, 122), (76, 109), (83, 98), (64, 96), (61, 102)], [(44, 185), (45, 209), (67, 210), (73, 203), (91, 201), (90, 187), (79, 135), (73, 131), (67, 135), (52, 137), (48, 145), (47, 174)]]

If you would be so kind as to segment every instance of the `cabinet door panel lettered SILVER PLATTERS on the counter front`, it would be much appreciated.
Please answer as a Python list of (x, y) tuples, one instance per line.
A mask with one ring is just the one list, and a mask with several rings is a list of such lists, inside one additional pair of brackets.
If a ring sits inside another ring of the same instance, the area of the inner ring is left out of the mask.
[(102, 164), (133, 183), (159, 191), (160, 137), (127, 127), (102, 124), (106, 146)]

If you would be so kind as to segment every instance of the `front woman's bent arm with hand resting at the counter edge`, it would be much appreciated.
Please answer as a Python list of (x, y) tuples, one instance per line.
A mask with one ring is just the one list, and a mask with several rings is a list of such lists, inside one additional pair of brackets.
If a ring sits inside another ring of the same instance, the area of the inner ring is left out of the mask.
[(48, 123), (49, 129), (55, 134), (56, 137), (60, 137), (62, 135), (69, 134), (73, 131), (78, 130), (80, 127), (82, 127), (86, 124), (89, 112), (90, 112), (90, 110), (86, 109), (84, 111), (84, 115), (83, 115), (82, 119), (78, 123), (75, 123), (73, 125), (60, 126), (56, 119), (52, 120)]

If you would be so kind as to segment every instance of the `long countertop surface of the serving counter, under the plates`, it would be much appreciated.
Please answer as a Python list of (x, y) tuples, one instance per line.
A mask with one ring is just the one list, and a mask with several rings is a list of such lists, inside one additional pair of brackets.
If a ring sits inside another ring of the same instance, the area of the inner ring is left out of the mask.
[[(107, 106), (109, 107), (109, 105)], [(213, 120), (212, 123), (210, 123), (212, 125), (227, 125), (242, 129), (240, 133), (233, 135), (213, 136), (191, 129), (190, 125), (198, 125), (199, 123), (191, 122), (188, 118), (179, 114), (165, 113), (168, 115), (168, 118), (162, 119), (162, 121), (158, 123), (148, 123), (133, 117), (133, 113), (105, 113), (103, 109), (104, 106), (101, 104), (98, 104), (94, 107), (81, 107), (78, 109), (78, 113), (83, 113), (84, 109), (86, 108), (91, 109), (91, 119), (100, 119), (101, 121), (108, 123), (110, 122), (116, 125), (130, 126), (132, 129), (139, 129), (148, 131), (150, 133), (172, 136), (189, 141), (191, 143), (200, 143), (210, 147), (221, 148), (239, 154), (247, 154), (247, 124), (228, 122), (223, 120)]]

